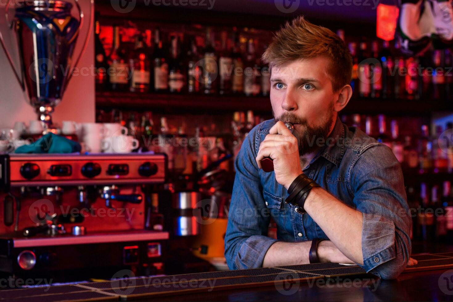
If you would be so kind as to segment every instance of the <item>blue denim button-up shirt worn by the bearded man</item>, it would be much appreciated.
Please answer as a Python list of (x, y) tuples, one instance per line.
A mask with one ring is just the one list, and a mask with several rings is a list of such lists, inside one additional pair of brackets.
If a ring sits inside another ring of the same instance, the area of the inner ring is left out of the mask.
[[(275, 180), (275, 173), (265, 173), (256, 164), (260, 143), (274, 124), (274, 120), (266, 120), (256, 125), (235, 160), (225, 235), (230, 269), (261, 267), (276, 241), (328, 239), (307, 213), (301, 215), (288, 207), (284, 202), (288, 192)], [(360, 129), (348, 128), (338, 117), (325, 142), (304, 173), (363, 214), (360, 266), (381, 278), (396, 278), (409, 260), (412, 225), (400, 163), (385, 144)], [(267, 236), (271, 217), (277, 225), (277, 240)]]

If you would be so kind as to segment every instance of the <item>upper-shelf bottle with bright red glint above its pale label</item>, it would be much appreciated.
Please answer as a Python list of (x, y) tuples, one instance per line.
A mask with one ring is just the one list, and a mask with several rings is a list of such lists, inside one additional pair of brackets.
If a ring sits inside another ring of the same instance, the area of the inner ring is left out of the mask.
[(130, 80), (131, 92), (147, 92), (149, 90), (150, 62), (148, 49), (145, 48), (143, 36), (135, 38), (135, 48), (129, 59), (132, 78)]

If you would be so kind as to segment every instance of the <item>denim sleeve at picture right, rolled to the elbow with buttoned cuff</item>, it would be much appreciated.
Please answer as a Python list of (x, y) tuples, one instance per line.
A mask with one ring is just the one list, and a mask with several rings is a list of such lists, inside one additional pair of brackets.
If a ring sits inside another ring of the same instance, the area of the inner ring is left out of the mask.
[(373, 144), (354, 164), (354, 204), (363, 214), (363, 268), (384, 279), (405, 269), (411, 253), (412, 220), (403, 173), (391, 149)]

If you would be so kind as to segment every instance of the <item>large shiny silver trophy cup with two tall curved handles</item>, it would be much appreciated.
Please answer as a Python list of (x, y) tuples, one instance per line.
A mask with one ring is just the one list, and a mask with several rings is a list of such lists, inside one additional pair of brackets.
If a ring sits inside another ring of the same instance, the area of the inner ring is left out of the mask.
[[(93, 0), (90, 0), (84, 40), (79, 34), (87, 17), (77, 0), (74, 4), (77, 18), (71, 14), (73, 4), (60, 0), (19, 0), (14, 1), (14, 7), (8, 0), (5, 13), (0, 14), (9, 29), (8, 34), (0, 32), (0, 42), (30, 105), (44, 124), (44, 133), (53, 131), (53, 108), (60, 103), (71, 80), (71, 71), (85, 51), (92, 30)], [(80, 38), (82, 50), (75, 56), (74, 48)], [(5, 42), (17, 44), (17, 53), (11, 53)], [(18, 64), (14, 63), (14, 58)]]

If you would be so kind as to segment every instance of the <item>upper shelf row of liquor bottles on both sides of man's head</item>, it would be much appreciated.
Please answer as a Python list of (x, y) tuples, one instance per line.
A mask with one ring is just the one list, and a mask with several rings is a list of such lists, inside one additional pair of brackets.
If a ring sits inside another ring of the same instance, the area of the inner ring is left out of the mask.
[[(270, 72), (260, 61), (270, 31), (101, 22), (96, 21), (98, 107), (270, 109)], [(354, 64), (353, 98), (346, 113), (453, 111), (452, 53), (448, 49), (405, 57), (393, 41), (345, 37), (342, 30), (337, 34), (347, 43)]]

